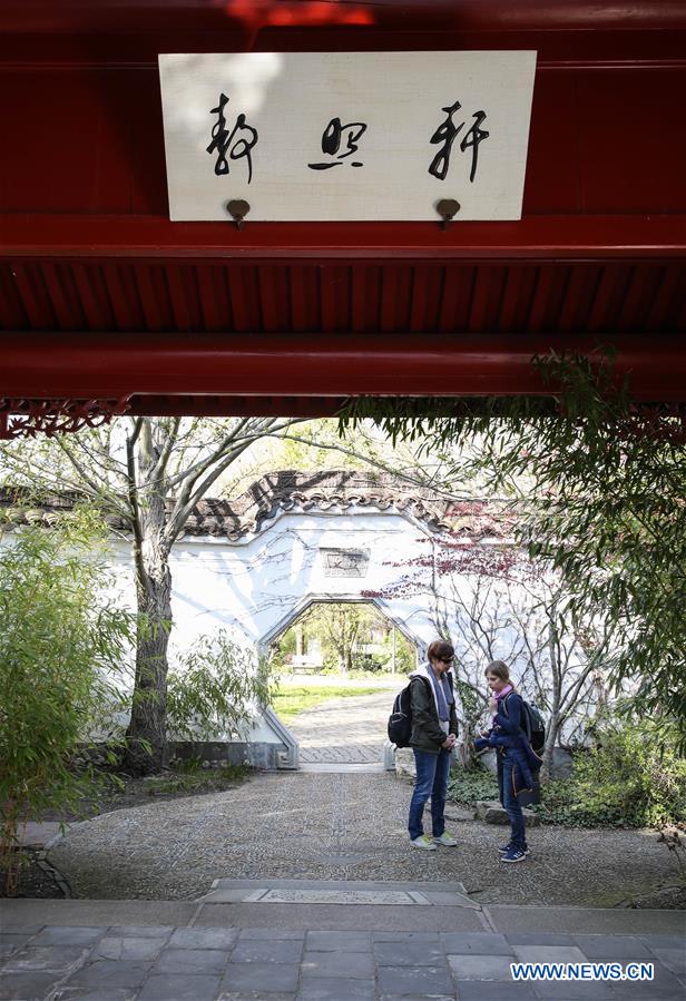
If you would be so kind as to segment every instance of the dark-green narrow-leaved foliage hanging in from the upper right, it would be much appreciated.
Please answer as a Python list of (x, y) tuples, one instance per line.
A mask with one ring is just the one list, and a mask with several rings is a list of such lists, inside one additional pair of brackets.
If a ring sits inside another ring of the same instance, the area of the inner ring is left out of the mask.
[(676, 720), (686, 747), (686, 409), (633, 401), (607, 354), (537, 365), (546, 398), (360, 401), (342, 433), (372, 418), (443, 452), (448, 489), (510, 495), (516, 541), (561, 576), (589, 654), (607, 644), (621, 705)]

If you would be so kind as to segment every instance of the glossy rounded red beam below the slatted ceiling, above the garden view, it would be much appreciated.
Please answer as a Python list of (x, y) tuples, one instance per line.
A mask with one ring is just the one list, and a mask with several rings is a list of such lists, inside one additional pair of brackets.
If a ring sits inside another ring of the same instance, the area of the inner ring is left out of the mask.
[[(629, 376), (636, 399), (686, 400), (682, 337), (615, 335), (614, 342), (616, 372)], [(598, 343), (574, 334), (13, 332), (1, 337), (0, 396), (545, 395), (535, 355), (590, 354)]]

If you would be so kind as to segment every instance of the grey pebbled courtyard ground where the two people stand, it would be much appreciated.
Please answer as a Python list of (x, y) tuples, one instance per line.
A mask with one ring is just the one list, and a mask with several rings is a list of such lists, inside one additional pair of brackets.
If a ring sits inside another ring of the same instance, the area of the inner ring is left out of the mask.
[(418, 852), (410, 794), (389, 773), (259, 774), (228, 792), (102, 814), (49, 858), (91, 899), (193, 900), (217, 877), (445, 879), (484, 903), (612, 906), (677, 882), (665, 847), (638, 832), (537, 828), (529, 860), (503, 866), (503, 828), (453, 822), (459, 847)]

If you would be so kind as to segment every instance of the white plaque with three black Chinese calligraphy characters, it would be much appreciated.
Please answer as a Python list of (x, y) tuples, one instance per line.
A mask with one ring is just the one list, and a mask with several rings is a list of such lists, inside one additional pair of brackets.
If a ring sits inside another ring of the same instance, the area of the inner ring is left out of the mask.
[(519, 219), (536, 52), (159, 57), (173, 219)]

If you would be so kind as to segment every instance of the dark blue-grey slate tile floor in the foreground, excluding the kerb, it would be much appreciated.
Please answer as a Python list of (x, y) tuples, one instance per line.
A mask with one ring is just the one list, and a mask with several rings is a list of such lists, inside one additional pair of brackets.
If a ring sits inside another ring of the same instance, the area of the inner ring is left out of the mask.
[[(86, 912), (88, 902), (80, 903)], [(138, 902), (126, 903), (135, 912)], [(586, 931), (572, 938), (521, 930), (441, 932), (435, 925), (425, 933), (402, 932), (390, 928), (392, 909), (380, 907), (357, 909), (376, 915), (373, 933), (318, 926), (202, 928), (197, 921), (176, 929), (161, 923), (27, 923), (22, 932), (20, 924), (4, 922), (6, 910), (0, 909), (0, 916), (3, 929), (11, 928), (4, 932), (10, 952), (0, 960), (0, 1001), (683, 1001), (686, 997), (686, 972), (678, 963), (686, 939), (678, 935), (618, 938)], [(527, 910), (529, 917), (545, 916), (555, 924), (561, 909), (537, 915), (532, 912), (543, 909), (512, 910)], [(594, 913), (569, 910), (576, 912), (577, 922)], [(638, 916), (647, 928), (657, 914), (669, 913), (638, 912)], [(385, 928), (379, 924), (381, 916)], [(614, 922), (617, 928), (621, 921), (620, 913), (607, 913), (608, 926)], [(650, 962), (655, 979), (512, 981), (512, 960), (586, 963), (605, 955), (619, 962)]]

